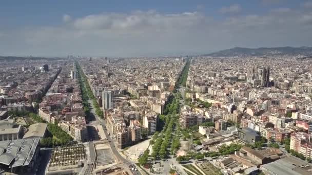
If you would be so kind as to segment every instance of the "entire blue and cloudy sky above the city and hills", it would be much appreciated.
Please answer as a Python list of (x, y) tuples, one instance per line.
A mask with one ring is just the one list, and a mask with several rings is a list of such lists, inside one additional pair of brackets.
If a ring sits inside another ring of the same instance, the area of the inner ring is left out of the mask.
[(139, 57), (312, 46), (312, 0), (0, 3), (0, 55)]

